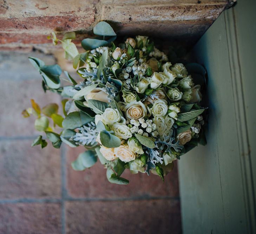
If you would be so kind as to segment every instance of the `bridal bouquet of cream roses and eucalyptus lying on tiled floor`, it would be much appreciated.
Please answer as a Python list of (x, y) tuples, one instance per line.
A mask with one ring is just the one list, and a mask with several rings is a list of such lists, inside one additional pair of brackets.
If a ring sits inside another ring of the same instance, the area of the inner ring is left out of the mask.
[[(40, 108), (34, 100), (22, 114), (36, 116), (35, 129), (45, 132), (55, 148), (62, 142), (86, 148), (72, 162), (74, 170), (90, 168), (98, 158), (111, 183), (129, 183), (120, 177), (125, 169), (152, 172), (164, 180), (174, 160), (197, 143), (205, 144), (205, 108), (198, 105), (205, 70), (196, 63), (172, 64), (147, 36), (116, 45), (116, 33), (106, 22), (93, 32), (96, 38), (81, 42), (83, 53), (71, 42), (75, 33), (66, 33), (62, 40), (54, 33), (50, 37), (55, 45), (61, 42), (66, 59), (73, 61), (83, 79), (79, 83), (66, 71), (66, 78), (60, 78), (59, 65), (29, 58), (42, 75), (44, 90), (65, 98), (63, 115), (56, 103)], [(71, 85), (61, 87), (61, 79)], [(43, 148), (47, 142), (40, 135), (34, 145)]]

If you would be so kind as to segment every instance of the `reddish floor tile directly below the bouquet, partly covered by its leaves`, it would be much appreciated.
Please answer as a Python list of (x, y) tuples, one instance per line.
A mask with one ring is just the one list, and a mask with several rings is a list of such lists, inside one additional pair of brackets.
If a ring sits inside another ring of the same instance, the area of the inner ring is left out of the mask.
[(131, 174), (128, 169), (122, 177), (129, 179), (129, 185), (116, 185), (106, 178), (106, 169), (100, 162), (83, 172), (74, 171), (70, 164), (83, 147), (67, 149), (67, 191), (72, 197), (124, 198), (147, 196), (179, 196), (177, 167), (165, 177), (139, 173)]

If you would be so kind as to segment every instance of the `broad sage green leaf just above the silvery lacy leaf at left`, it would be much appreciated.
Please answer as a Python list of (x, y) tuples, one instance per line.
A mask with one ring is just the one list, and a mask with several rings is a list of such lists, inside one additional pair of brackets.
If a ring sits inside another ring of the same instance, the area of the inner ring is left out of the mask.
[(89, 115), (84, 112), (71, 112), (62, 122), (62, 126), (65, 129), (75, 129), (85, 125), (88, 122), (93, 121)]

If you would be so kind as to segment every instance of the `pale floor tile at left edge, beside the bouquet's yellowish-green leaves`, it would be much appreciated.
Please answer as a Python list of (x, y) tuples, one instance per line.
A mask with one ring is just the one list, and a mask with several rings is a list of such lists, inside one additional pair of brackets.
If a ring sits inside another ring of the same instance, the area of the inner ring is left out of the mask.
[[(54, 64), (53, 56), (40, 53), (0, 54), (0, 136), (35, 135), (34, 116), (24, 119), (21, 112), (31, 107), (30, 99), (34, 99), (43, 107), (48, 103), (60, 103), (60, 96), (51, 92), (44, 93), (41, 86), (41, 75), (28, 61), (28, 56), (39, 57), (47, 65)], [(15, 64), (15, 66), (14, 66)]]

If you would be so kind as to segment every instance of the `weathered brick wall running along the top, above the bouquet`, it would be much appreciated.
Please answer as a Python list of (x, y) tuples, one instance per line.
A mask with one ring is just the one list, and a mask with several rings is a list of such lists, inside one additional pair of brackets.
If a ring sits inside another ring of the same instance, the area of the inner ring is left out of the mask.
[(72, 4), (66, 1), (59, 4), (53, 0), (2, 0), (0, 48), (12, 45), (11, 48), (19, 49), (27, 44), (47, 47), (51, 42), (46, 35), (51, 31), (60, 34), (76, 31), (86, 38), (101, 20), (109, 22), (118, 35), (139, 33), (171, 40), (179, 38), (189, 46), (208, 29), (227, 3), (228, 0), (76, 0)]

